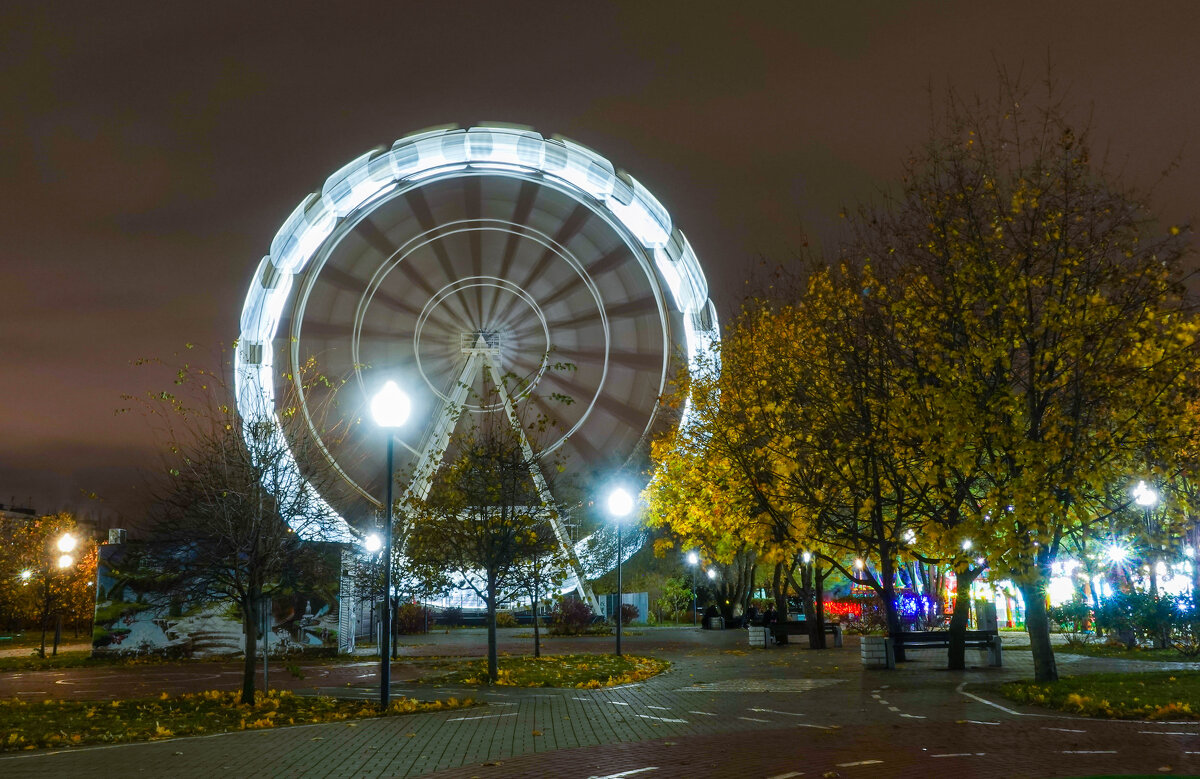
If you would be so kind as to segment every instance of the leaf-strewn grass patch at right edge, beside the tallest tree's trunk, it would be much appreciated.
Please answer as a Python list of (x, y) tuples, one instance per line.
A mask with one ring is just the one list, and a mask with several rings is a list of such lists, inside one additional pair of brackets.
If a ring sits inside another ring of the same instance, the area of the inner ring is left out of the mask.
[(1200, 720), (1200, 672), (1091, 673), (1057, 682), (1007, 682), (1000, 694), (1019, 703), (1109, 719)]

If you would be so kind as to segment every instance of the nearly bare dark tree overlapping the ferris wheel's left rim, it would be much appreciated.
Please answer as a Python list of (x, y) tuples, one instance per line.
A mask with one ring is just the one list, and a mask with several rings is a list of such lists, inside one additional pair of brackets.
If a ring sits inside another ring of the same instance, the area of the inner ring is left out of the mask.
[[(322, 492), (338, 484), (338, 474), (323, 465), (328, 459), (308, 420), (320, 425), (329, 418), (320, 408), (336, 402), (337, 383), (310, 362), (301, 374), (284, 377), (275, 409), (242, 415), (226, 380), (230, 365), (172, 367), (173, 390), (130, 396), (155, 420), (166, 449), (155, 487), (157, 564), (170, 598), (236, 605), (245, 652), (241, 701), (252, 703), (264, 599), (299, 570), (316, 575), (324, 563), (304, 539), (323, 537), (335, 521)], [(338, 433), (325, 430), (322, 437), (336, 442)], [(293, 462), (305, 467), (307, 485), (290, 478)]]

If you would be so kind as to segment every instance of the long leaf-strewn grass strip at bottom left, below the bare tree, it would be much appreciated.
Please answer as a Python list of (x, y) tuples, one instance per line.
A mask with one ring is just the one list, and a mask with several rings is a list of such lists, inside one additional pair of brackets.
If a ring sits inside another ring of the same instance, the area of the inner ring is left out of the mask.
[[(380, 717), (372, 701), (259, 693), (253, 706), (240, 693), (192, 693), (133, 701), (0, 701), (0, 751), (76, 744), (155, 741), (235, 730), (260, 730), (307, 723)], [(400, 699), (385, 717), (474, 706), (470, 699), (420, 702)], [(353, 726), (353, 724), (352, 724)]]

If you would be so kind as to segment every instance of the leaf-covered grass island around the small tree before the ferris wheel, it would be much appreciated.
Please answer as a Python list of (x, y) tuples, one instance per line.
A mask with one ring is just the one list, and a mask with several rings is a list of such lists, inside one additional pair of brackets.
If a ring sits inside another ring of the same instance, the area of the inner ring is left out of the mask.
[[(670, 667), (666, 660), (630, 654), (544, 654), (502, 657), (497, 684), (508, 687), (574, 687), (595, 689), (631, 684)], [(436, 660), (425, 665), (437, 673), (426, 684), (487, 684), (487, 660)]]

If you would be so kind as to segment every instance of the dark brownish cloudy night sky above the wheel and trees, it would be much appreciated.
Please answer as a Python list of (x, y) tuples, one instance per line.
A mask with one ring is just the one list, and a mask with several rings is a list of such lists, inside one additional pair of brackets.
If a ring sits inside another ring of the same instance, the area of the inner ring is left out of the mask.
[(233, 341), (295, 204), (432, 125), (523, 124), (628, 169), (726, 311), (760, 257), (834, 245), (840, 208), (895, 180), (930, 92), (994, 94), (997, 66), (1037, 83), (1049, 58), (1093, 156), (1165, 220), (1198, 211), (1194, 2), (18, 0), (0, 32), (0, 503), (104, 523), (154, 462), (114, 414), (150, 389), (131, 360)]

